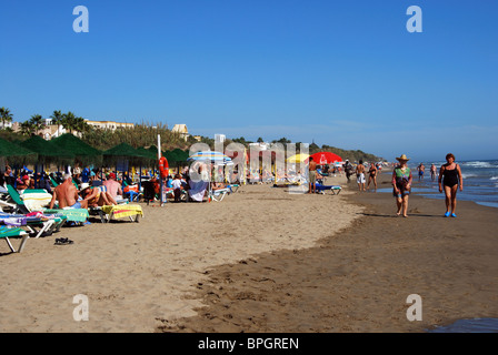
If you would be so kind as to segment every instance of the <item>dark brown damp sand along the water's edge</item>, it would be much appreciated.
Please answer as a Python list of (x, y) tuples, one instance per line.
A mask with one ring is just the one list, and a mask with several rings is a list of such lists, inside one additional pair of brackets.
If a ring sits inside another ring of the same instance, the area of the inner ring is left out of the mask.
[[(390, 187), (389, 178), (380, 175), (379, 187)], [(418, 333), (498, 317), (497, 209), (459, 201), (458, 217), (445, 219), (444, 201), (412, 194), (405, 219), (396, 216), (391, 194), (343, 184), (356, 205), (350, 226), (337, 227), (328, 212), (326, 231), (340, 231), (317, 246), (209, 268), (193, 296), (205, 304), (199, 315), (162, 318), (158, 331)], [(421, 321), (410, 322), (414, 294)]]

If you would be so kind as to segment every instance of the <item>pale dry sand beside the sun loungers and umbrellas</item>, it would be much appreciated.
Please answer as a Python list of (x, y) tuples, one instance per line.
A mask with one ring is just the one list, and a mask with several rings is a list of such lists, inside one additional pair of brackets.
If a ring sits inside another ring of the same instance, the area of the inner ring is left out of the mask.
[[(163, 320), (197, 315), (209, 270), (312, 247), (349, 225), (357, 207), (345, 195), (246, 185), (221, 202), (142, 204), (139, 223), (63, 227), (28, 240), (22, 253), (4, 254), (1, 241), (0, 331), (156, 332)], [(74, 243), (54, 245), (56, 237)], [(88, 322), (73, 320), (79, 294), (89, 300)]]

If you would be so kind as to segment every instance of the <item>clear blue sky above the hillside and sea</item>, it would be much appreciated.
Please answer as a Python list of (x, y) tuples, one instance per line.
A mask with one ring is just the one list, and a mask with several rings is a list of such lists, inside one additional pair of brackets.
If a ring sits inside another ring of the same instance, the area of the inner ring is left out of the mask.
[[(72, 29), (77, 6), (89, 32)], [(409, 6), (422, 32), (409, 33)], [(496, 1), (3, 1), (0, 106), (498, 159)], [(153, 144), (153, 142), (151, 142)]]

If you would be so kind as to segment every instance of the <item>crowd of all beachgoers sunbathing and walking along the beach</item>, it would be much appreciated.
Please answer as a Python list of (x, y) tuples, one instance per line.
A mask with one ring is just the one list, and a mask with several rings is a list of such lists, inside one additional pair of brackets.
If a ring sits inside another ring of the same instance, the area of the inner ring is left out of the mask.
[[(397, 205), (396, 214), (406, 217), (414, 176), (410, 168), (408, 168), (409, 158), (402, 154), (396, 159), (398, 164), (394, 166), (391, 179), (392, 194), (396, 197)], [(438, 181), (439, 192), (445, 193), (447, 210), (445, 216), (456, 217), (457, 191), (458, 189), (462, 191), (464, 181), (461, 169), (459, 164), (455, 162), (455, 155), (448, 154), (446, 161), (447, 163), (440, 166), (439, 173), (434, 163), (430, 165), (429, 171), (431, 180)], [(363, 161), (360, 160), (355, 166), (346, 160), (340, 166), (336, 166), (335, 164), (319, 165), (312, 158), (310, 158), (308, 169), (308, 193), (317, 192), (317, 181), (322, 181), (325, 176), (331, 174), (336, 175), (337, 173), (342, 172), (345, 172), (348, 182), (350, 182), (351, 176), (356, 174), (358, 190), (365, 192), (370, 189), (370, 184), (372, 185), (374, 191), (377, 191), (377, 176), (382, 169), (382, 164), (375, 162), (365, 164)], [(417, 166), (417, 171), (418, 180), (422, 181), (426, 171), (424, 163), (420, 163)], [(212, 171), (202, 165), (199, 166), (197, 173), (205, 181), (209, 181), (213, 178), (216, 183), (211, 184), (211, 186), (215, 190), (223, 189), (226, 186), (223, 180), (238, 179), (237, 172), (231, 171), (229, 175), (226, 176), (225, 171), (222, 170)], [(270, 172), (268, 170), (255, 171), (249, 169), (245, 178), (247, 182), (276, 182), (279, 179), (282, 179), (282, 175), (288, 176), (289, 174), (292, 176), (302, 175), (300, 171), (289, 171), (283, 174), (282, 172)], [(98, 169), (81, 169), (79, 166), (73, 168), (71, 173), (66, 174), (60, 172), (50, 174), (46, 172), (33, 173), (24, 166), (14, 174), (12, 168), (7, 165), (4, 166), (4, 171), (0, 173), (0, 193), (8, 192), (7, 185), (11, 185), (18, 192), (29, 189), (44, 189), (48, 193), (52, 194), (52, 201), (49, 205), (50, 209), (54, 207), (56, 203), (58, 203), (59, 207), (78, 209), (114, 205), (118, 203), (117, 201), (123, 199), (123, 195), (127, 193), (124, 186), (132, 184), (132, 180), (128, 172), (123, 172), (120, 178), (120, 181), (118, 181), (114, 172), (103, 174), (103, 172)], [(189, 168), (185, 166), (179, 170), (178, 173), (168, 175), (165, 183), (166, 189), (173, 192), (173, 201), (181, 201), (181, 193), (191, 189)], [(161, 181), (157, 176), (151, 176), (150, 180), (146, 181), (145, 186), (150, 186), (149, 192), (145, 193), (146, 199), (153, 200), (155, 196), (159, 195), (160, 185)], [(138, 193), (138, 191), (136, 192)]]

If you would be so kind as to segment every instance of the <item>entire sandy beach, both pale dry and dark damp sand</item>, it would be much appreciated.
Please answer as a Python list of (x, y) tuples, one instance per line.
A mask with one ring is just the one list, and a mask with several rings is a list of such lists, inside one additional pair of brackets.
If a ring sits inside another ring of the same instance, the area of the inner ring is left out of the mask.
[(246, 185), (221, 202), (142, 204), (140, 223), (63, 227), (22, 253), (1, 242), (0, 331), (424, 332), (498, 316), (495, 209), (460, 202), (442, 219), (444, 202), (412, 195), (402, 219), (388, 193), (327, 183), (343, 190)]

